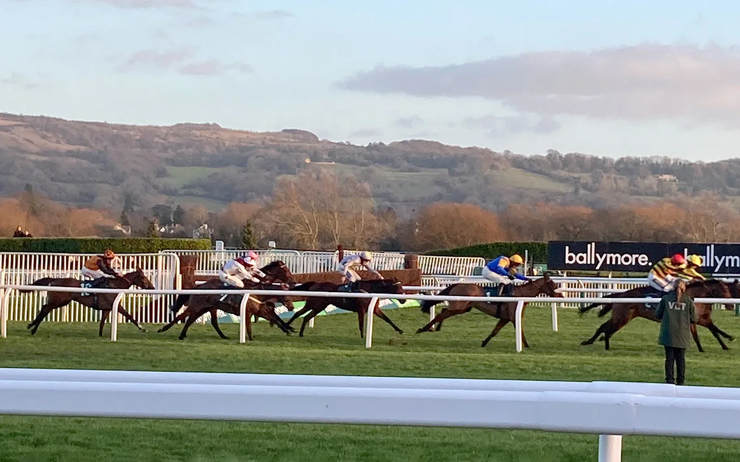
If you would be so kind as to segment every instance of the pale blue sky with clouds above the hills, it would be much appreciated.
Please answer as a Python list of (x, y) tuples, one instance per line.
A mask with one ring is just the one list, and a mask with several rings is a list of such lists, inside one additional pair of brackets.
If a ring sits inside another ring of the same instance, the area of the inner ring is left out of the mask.
[(740, 157), (740, 2), (0, 0), (0, 112)]

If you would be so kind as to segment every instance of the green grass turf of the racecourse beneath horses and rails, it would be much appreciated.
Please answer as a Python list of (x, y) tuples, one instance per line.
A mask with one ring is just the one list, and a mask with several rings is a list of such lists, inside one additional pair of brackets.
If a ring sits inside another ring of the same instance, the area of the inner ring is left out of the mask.
[[(184, 342), (180, 326), (167, 333), (119, 327), (118, 342), (97, 336), (95, 324), (44, 323), (30, 336), (10, 323), (0, 340), (0, 367), (311, 373), (554, 380), (661, 381), (658, 325), (637, 319), (603, 343), (582, 347), (601, 319), (560, 310), (560, 332), (548, 309), (528, 308), (531, 345), (514, 353), (514, 329), (505, 327), (488, 347), (480, 341), (494, 319), (468, 313), (438, 333), (414, 334), (425, 323), (417, 308), (388, 310), (407, 333), (397, 335), (376, 318), (374, 346), (364, 348), (354, 315), (323, 316), (303, 339), (286, 337), (266, 322), (255, 341), (238, 344), (238, 325), (195, 325)], [(740, 336), (740, 318), (713, 314)], [(153, 327), (153, 328), (152, 328)], [(106, 334), (107, 334), (106, 330)], [(687, 354), (687, 384), (740, 387), (740, 343), (723, 352), (699, 327), (706, 353)], [(290, 403), (286, 403), (289, 406)], [(433, 406), (434, 403), (430, 403)], [(186, 407), (187, 403), (183, 403)], [(0, 416), (0, 461), (595, 461), (596, 435), (495, 429), (249, 424), (103, 418)], [(624, 438), (624, 461), (738, 461), (739, 441), (697, 438)]]

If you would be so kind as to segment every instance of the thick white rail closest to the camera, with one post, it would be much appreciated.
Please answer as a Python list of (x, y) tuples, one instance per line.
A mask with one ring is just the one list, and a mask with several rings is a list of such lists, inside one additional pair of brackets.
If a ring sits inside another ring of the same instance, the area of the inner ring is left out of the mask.
[(740, 439), (739, 398), (621, 382), (0, 369), (6, 415), (585, 432), (600, 435), (600, 462), (621, 461), (621, 435)]

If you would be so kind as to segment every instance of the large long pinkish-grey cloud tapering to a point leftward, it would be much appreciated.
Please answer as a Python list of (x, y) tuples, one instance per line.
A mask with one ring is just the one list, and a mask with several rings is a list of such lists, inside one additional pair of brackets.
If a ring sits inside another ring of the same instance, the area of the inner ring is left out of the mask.
[[(549, 116), (737, 122), (740, 48), (639, 44), (531, 52), (439, 67), (377, 67), (336, 86), (420, 97), (480, 97)], [(542, 123), (545, 129), (552, 121)]]

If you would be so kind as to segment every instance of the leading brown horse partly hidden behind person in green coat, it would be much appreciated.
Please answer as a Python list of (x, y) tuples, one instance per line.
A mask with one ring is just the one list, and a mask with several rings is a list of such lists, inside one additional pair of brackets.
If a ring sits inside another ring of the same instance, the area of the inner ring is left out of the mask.
[[(633, 289), (628, 292), (613, 294), (613, 296), (610, 295), (608, 296), (608, 298), (642, 298), (647, 293), (655, 292), (655, 289), (652, 288), (637, 289), (639, 289), (639, 291)], [(641, 293), (642, 295), (625, 296), (625, 293)], [(692, 282), (691, 284), (687, 285), (686, 293), (692, 298), (703, 297), (729, 299), (733, 296), (737, 296), (737, 294), (740, 293), (740, 282), (735, 281), (732, 285), (728, 285), (726, 282), (722, 282), (719, 279)], [(657, 306), (658, 302), (659, 299), (656, 299), (654, 306)], [(595, 308), (596, 306), (599, 306), (599, 304), (594, 303), (586, 307), (579, 308), (579, 312), (583, 314), (588, 310)], [(605, 316), (605, 314), (609, 312), (611, 312), (611, 319), (600, 325), (599, 328), (596, 329), (596, 333), (593, 334), (591, 339), (581, 342), (582, 345), (593, 344), (593, 342), (596, 342), (596, 338), (599, 337), (599, 335), (604, 334), (604, 336), (600, 340), (604, 341), (605, 349), (609, 350), (609, 340), (611, 339), (611, 336), (613, 336), (622, 327), (625, 327), (625, 325), (627, 325), (627, 323), (630, 322), (632, 319), (645, 318), (650, 319), (650, 321), (660, 322), (660, 320), (656, 319), (655, 317), (655, 308), (647, 308), (644, 303), (605, 304), (602, 309), (599, 310), (599, 317)], [(714, 322), (712, 321), (712, 305), (706, 303), (696, 304), (696, 324), (707, 327), (707, 329), (709, 329), (715, 339), (717, 339), (717, 342), (719, 342), (722, 350), (729, 350), (729, 348), (727, 348), (727, 345), (722, 342), (720, 336), (723, 336), (725, 339), (728, 339), (730, 341), (734, 340), (734, 337), (730, 336), (730, 334), (728, 333), (725, 333), (714, 324)], [(693, 336), (694, 342), (696, 342), (696, 347), (699, 349), (700, 352), (703, 352), (704, 349), (702, 348), (701, 342), (699, 342), (699, 333), (696, 332), (696, 325), (691, 325), (691, 335)]]

